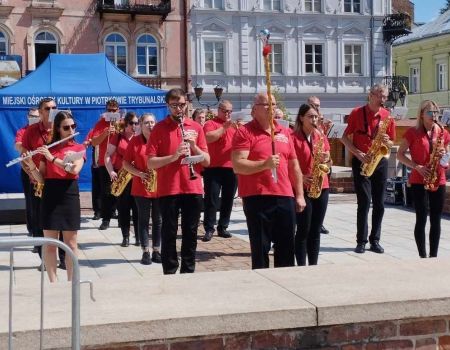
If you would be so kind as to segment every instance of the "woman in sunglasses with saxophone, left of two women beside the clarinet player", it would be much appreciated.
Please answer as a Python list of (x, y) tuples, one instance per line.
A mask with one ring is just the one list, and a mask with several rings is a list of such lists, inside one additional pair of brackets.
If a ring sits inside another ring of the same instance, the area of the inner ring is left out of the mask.
[[(115, 133), (109, 138), (108, 148), (105, 153), (105, 166), (108, 170), (111, 182), (116, 181), (118, 172), (122, 169), (123, 159), (130, 141), (135, 137), (139, 124), (136, 113), (128, 112), (123, 119), (123, 131)], [(131, 196), (131, 181), (128, 182), (123, 192), (117, 197), (117, 211), (119, 212), (119, 227), (122, 231), (122, 247), (130, 244), (130, 210), (133, 217), (133, 225), (137, 227), (137, 208), (134, 198)], [(139, 245), (139, 235), (136, 235), (136, 245)]]

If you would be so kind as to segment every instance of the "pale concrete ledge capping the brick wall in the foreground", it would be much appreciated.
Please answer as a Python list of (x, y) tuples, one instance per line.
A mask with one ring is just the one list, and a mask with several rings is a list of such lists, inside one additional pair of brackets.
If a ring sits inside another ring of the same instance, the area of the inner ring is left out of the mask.
[[(82, 344), (208, 337), (450, 315), (450, 260), (321, 265), (95, 282), (82, 287)], [(0, 281), (0, 309), (7, 283)], [(14, 294), (15, 348), (35, 348), (39, 287)], [(70, 286), (46, 287), (45, 347), (67, 347)], [(7, 344), (0, 318), (0, 349)]]

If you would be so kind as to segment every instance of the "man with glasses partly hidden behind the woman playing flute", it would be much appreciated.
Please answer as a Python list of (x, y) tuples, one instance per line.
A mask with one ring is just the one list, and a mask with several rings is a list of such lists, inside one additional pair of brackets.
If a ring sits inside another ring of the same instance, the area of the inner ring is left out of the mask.
[[(39, 116), (40, 120), (38, 123), (34, 123), (25, 130), (22, 138), (22, 148), (21, 152), (34, 151), (35, 149), (47, 145), (51, 138), (53, 122), (50, 121), (50, 110), (56, 109), (56, 102), (51, 97), (43, 98), (39, 101), (38, 113), (36, 110), (30, 110), (30, 115), (32, 117)], [(40, 155), (36, 154), (33, 156), (33, 162), (36, 167), (39, 168)], [(30, 176), (30, 192), (31, 192), (31, 227), (33, 237), (44, 237), (44, 231), (42, 230), (40, 213), (41, 213), (41, 198), (34, 195), (34, 179)], [(35, 247), (33, 252), (39, 253), (41, 256), (41, 247)], [(59, 251), (60, 268), (65, 268), (65, 252), (62, 249)]]

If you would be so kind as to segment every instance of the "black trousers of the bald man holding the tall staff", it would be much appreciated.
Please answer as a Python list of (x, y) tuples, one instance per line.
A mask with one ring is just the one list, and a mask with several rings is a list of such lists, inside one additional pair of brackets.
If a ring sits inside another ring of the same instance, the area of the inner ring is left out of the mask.
[(252, 269), (269, 267), (269, 251), (274, 243), (274, 266), (294, 266), (294, 198), (249, 196), (242, 199), (247, 218)]

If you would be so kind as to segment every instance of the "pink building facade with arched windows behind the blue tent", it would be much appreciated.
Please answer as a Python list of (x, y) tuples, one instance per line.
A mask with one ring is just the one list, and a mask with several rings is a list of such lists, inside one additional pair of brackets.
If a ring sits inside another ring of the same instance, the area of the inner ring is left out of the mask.
[(146, 85), (186, 88), (184, 13), (183, 0), (1, 1), (0, 55), (26, 74), (49, 53), (105, 52)]

